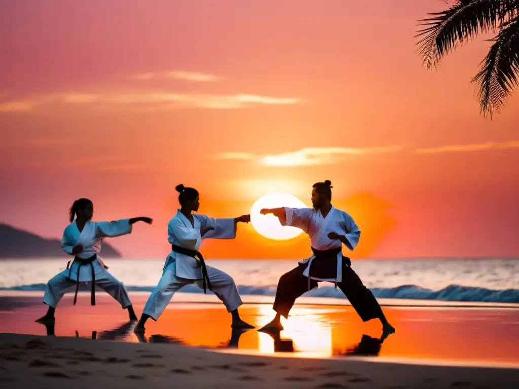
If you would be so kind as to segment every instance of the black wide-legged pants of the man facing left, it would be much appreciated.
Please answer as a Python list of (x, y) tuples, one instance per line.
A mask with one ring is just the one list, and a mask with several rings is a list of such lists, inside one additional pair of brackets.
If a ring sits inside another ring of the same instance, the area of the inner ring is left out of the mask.
[[(300, 264), (279, 279), (273, 309), (285, 318), (288, 318), (295, 300), (308, 291), (308, 277), (303, 275), (306, 267), (306, 263)], [(310, 274), (311, 272), (312, 267), (310, 267)], [(315, 288), (319, 282), (322, 281), (310, 280), (310, 288)], [(382, 316), (382, 309), (371, 290), (366, 288), (357, 273), (344, 263), (343, 281), (337, 283), (337, 286), (346, 295), (363, 322)]]

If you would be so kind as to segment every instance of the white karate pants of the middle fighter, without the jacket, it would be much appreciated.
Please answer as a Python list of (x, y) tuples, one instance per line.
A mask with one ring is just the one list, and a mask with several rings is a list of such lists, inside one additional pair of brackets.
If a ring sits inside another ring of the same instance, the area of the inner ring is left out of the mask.
[[(243, 302), (233, 277), (211, 266), (206, 265), (206, 268), (212, 291), (222, 300), (225, 308), (227, 308), (227, 312), (237, 309)], [(203, 289), (202, 279), (190, 280), (177, 277), (175, 274), (176, 263), (170, 262), (164, 269), (157, 287), (149, 296), (148, 301), (146, 301), (142, 311), (143, 314), (157, 321), (177, 290), (189, 284), (194, 284)]]

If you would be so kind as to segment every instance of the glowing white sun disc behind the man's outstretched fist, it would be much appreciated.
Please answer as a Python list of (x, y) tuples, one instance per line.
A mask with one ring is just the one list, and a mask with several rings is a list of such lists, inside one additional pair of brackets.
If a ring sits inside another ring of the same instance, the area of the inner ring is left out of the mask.
[(279, 219), (274, 215), (262, 215), (263, 208), (278, 208), (288, 206), (291, 208), (305, 208), (306, 205), (297, 197), (288, 193), (270, 193), (260, 197), (251, 209), (251, 223), (254, 229), (265, 238), (274, 240), (293, 239), (303, 231), (299, 228), (281, 226)]

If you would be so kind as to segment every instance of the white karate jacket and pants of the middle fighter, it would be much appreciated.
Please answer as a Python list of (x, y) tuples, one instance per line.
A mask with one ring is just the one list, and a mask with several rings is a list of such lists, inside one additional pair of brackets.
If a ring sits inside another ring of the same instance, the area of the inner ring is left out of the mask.
[[(234, 218), (213, 219), (206, 215), (193, 214), (193, 223), (194, 225), (178, 210), (168, 224), (168, 242), (198, 251), (203, 239), (236, 238)], [(204, 227), (214, 227), (214, 230), (208, 231), (202, 238), (200, 229)], [(233, 277), (211, 266), (206, 265), (206, 268), (212, 291), (222, 300), (227, 312), (237, 309), (242, 301)], [(171, 251), (166, 257), (162, 277), (144, 305), (143, 314), (156, 321), (168, 306), (173, 294), (188, 284), (203, 287), (200, 262), (196, 258)]]

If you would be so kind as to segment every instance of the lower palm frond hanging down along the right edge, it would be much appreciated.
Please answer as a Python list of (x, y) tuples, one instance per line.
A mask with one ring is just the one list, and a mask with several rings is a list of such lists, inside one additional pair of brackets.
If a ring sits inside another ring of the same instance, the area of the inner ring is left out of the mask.
[(506, 103), (519, 79), (519, 17), (502, 24), (492, 47), (481, 62), (482, 69), (472, 80), (479, 84), (481, 112), (490, 118)]

